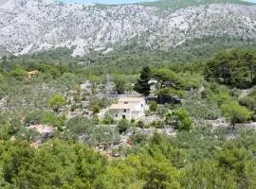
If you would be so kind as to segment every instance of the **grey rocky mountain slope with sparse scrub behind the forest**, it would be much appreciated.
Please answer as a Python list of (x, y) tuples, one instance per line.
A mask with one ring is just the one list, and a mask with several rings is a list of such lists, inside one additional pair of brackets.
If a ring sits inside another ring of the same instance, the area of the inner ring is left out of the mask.
[(256, 39), (256, 6), (229, 3), (184, 9), (104, 6), (53, 0), (0, 0), (0, 54), (72, 48), (73, 56), (108, 53), (131, 41), (168, 49), (201, 37)]

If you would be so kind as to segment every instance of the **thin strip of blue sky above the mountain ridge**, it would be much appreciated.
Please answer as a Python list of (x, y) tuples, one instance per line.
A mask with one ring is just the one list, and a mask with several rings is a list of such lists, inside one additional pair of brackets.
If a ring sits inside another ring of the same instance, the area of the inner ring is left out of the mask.
[[(68, 3), (99, 3), (99, 4), (129, 4), (129, 3), (137, 3), (137, 2), (150, 2), (155, 0), (57, 0)], [(256, 0), (246, 0), (249, 2), (256, 3)]]

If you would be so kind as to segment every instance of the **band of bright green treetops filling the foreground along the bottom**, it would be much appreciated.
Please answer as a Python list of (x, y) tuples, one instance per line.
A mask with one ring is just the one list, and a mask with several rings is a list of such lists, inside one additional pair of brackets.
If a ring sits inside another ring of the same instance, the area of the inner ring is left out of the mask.
[(176, 138), (155, 133), (125, 160), (107, 161), (77, 143), (53, 140), (35, 150), (6, 141), (0, 146), (1, 187), (253, 188), (255, 147), (255, 131), (241, 131), (232, 142), (209, 130)]

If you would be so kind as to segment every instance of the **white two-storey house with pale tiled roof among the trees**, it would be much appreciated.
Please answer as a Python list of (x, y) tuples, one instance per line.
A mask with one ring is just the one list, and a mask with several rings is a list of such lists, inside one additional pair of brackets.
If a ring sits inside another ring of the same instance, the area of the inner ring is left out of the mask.
[(137, 119), (144, 115), (146, 102), (143, 97), (121, 97), (109, 112), (115, 119)]

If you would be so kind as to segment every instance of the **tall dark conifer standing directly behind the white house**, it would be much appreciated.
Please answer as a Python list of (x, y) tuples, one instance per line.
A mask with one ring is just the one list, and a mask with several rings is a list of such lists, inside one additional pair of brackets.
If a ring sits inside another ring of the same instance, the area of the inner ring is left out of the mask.
[(143, 67), (139, 79), (137, 79), (137, 83), (135, 84), (134, 90), (139, 93), (147, 96), (150, 94), (150, 81), (151, 78), (151, 70), (148, 66)]

